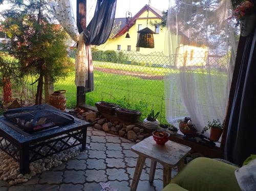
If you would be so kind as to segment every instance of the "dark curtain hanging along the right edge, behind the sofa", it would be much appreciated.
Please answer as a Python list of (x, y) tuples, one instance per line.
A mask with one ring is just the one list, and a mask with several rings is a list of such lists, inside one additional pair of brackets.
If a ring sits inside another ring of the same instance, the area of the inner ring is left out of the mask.
[[(233, 88), (232, 88), (233, 87)], [(256, 30), (240, 37), (229, 97), (224, 158), (242, 165), (256, 154)]]

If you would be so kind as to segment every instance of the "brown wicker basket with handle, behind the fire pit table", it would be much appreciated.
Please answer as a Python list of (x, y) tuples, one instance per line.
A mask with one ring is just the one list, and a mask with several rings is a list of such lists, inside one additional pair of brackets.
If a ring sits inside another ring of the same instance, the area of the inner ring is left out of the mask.
[(63, 95), (66, 90), (54, 91), (49, 97), (49, 104), (62, 111), (66, 110), (66, 97)]

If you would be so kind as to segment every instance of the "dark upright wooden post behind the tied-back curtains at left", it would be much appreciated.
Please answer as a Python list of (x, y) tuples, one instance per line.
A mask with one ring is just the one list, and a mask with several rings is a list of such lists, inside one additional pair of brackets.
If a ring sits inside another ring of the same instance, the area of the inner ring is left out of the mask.
[[(81, 33), (86, 29), (86, 5), (87, 0), (76, 0), (76, 25), (78, 32)], [(76, 105), (86, 105), (86, 88), (79, 86), (76, 88)]]

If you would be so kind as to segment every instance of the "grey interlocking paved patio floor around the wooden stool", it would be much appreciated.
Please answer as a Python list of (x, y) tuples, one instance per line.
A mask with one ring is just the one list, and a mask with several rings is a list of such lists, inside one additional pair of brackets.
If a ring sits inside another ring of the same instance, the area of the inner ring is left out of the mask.
[[(119, 136), (88, 128), (90, 150), (56, 168), (32, 177), (26, 183), (9, 186), (0, 180), (0, 191), (17, 190), (88, 190), (100, 191), (99, 182), (108, 182), (119, 191), (130, 190), (138, 155), (131, 151), (133, 142)], [(162, 166), (157, 164), (153, 185), (148, 182), (150, 159), (146, 159), (138, 191), (162, 190)], [(177, 174), (174, 169), (172, 176)]]

